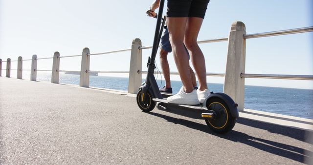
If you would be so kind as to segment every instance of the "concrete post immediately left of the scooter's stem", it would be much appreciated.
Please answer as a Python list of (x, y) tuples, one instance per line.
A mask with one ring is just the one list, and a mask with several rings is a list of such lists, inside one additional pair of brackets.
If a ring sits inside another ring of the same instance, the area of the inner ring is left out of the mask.
[(141, 73), (138, 74), (138, 70), (141, 71), (142, 63), (142, 51), (139, 49), (140, 46), (141, 40), (134, 39), (132, 44), (131, 63), (129, 68), (128, 93), (136, 94), (142, 81)]

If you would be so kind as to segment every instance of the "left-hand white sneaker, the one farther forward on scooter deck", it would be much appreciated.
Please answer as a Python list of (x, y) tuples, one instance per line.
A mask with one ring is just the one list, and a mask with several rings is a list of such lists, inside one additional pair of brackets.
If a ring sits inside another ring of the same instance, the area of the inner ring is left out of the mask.
[(186, 105), (198, 105), (199, 100), (197, 96), (197, 90), (193, 90), (191, 93), (186, 93), (183, 86), (180, 88), (179, 92), (166, 99), (168, 103), (176, 104), (186, 104)]

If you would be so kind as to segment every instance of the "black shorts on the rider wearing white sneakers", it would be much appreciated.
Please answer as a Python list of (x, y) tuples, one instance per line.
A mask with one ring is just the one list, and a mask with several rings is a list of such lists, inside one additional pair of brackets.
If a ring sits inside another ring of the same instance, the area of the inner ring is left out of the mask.
[(167, 17), (200, 17), (204, 19), (210, 0), (167, 0)]

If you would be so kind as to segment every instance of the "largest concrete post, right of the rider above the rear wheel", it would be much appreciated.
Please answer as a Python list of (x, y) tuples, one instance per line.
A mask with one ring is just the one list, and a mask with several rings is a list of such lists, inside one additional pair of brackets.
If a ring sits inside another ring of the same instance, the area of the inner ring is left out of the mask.
[(224, 82), (224, 93), (238, 103), (239, 111), (244, 110), (245, 103), (245, 78), (240, 77), (241, 73), (245, 73), (246, 65), (245, 34), (246, 25), (243, 22), (231, 24)]

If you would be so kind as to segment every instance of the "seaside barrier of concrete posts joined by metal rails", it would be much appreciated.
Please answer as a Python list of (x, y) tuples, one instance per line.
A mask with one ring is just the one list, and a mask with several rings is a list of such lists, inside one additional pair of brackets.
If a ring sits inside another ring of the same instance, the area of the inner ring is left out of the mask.
[[(247, 74), (245, 73), (246, 39), (278, 36), (278, 35), (288, 35), (288, 34), (304, 33), (304, 32), (313, 32), (313, 26), (247, 35), (246, 25), (241, 21), (235, 21), (234, 23), (231, 24), (228, 38), (198, 41), (198, 43), (228, 41), (225, 73), (206, 73), (206, 75), (224, 77), (223, 92), (229, 95), (236, 103), (238, 103), (239, 111), (244, 111), (245, 78), (313, 80), (313, 75), (274, 75), (274, 74)], [(80, 72), (79, 85), (82, 87), (89, 87), (89, 73), (92, 73), (92, 72), (129, 73), (128, 93), (136, 94), (139, 86), (141, 85), (142, 74), (147, 73), (147, 71), (142, 70), (142, 50), (151, 49), (151, 48), (152, 46), (142, 46), (141, 40), (136, 38), (133, 40), (132, 46), (130, 49), (90, 54), (89, 48), (84, 48), (81, 55), (60, 56), (59, 52), (55, 52), (53, 57), (51, 58), (37, 58), (37, 55), (33, 55), (32, 59), (28, 59), (28, 60), (23, 60), (21, 56), (16, 61), (11, 61), (10, 58), (8, 58), (6, 61), (2, 61), (2, 59), (0, 59), (0, 76), (2, 76), (1, 74), (2, 70), (6, 70), (5, 76), (10, 78), (11, 70), (17, 70), (17, 79), (22, 79), (22, 71), (30, 71), (31, 72), (30, 80), (36, 81), (37, 71), (50, 71), (52, 72), (51, 82), (59, 83), (60, 72)], [(104, 54), (124, 52), (124, 51), (131, 51), (129, 71), (92, 71), (92, 70), (89, 70), (90, 56), (104, 55)], [(78, 57), (78, 56), (82, 57), (80, 71), (60, 70), (61, 58)], [(37, 69), (37, 61), (44, 60), (44, 59), (53, 59), (52, 70)], [(22, 69), (23, 61), (31, 61), (31, 68), (29, 70)], [(2, 62), (6, 62), (6, 69), (2, 69)], [(18, 62), (17, 69), (11, 69), (11, 62)], [(170, 72), (170, 74), (178, 75), (178, 72)]]

